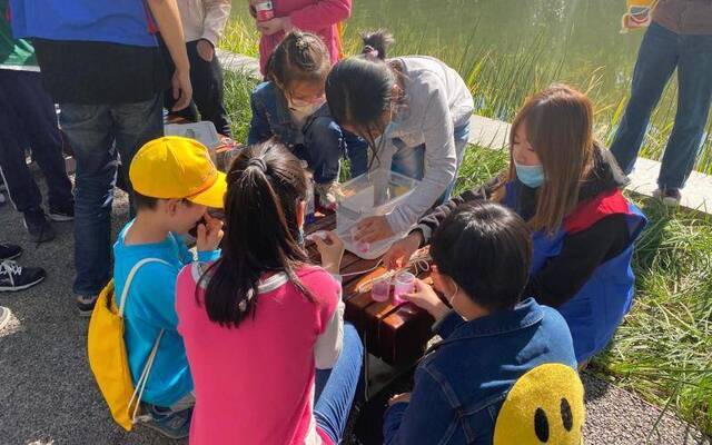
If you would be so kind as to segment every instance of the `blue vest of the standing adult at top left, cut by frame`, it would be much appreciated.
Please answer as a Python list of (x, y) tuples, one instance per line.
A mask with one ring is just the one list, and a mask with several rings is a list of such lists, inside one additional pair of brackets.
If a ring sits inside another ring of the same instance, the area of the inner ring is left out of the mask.
[(144, 0), (10, 0), (16, 38), (156, 47)]

